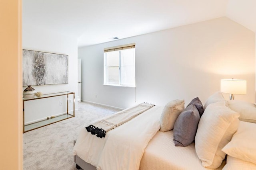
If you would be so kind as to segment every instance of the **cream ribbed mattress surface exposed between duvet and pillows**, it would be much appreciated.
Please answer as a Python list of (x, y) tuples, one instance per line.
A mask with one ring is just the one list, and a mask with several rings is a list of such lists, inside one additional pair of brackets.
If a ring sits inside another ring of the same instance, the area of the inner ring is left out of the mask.
[[(226, 164), (218, 168), (221, 170)], [(158, 131), (148, 143), (140, 162), (140, 170), (211, 170), (204, 168), (196, 155), (195, 144), (175, 147), (173, 130)]]

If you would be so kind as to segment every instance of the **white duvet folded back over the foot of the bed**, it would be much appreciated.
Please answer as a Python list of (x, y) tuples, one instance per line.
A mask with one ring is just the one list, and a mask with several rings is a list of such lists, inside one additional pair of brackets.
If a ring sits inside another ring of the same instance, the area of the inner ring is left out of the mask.
[(97, 170), (138, 170), (148, 142), (160, 129), (162, 107), (154, 106), (98, 138), (80, 131), (73, 154)]

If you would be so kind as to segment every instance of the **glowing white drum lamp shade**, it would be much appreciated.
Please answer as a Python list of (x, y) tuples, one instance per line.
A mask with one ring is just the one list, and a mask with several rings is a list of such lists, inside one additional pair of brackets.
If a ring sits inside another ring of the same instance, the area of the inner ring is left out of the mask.
[(246, 94), (246, 80), (221, 79), (220, 91), (229, 94)]

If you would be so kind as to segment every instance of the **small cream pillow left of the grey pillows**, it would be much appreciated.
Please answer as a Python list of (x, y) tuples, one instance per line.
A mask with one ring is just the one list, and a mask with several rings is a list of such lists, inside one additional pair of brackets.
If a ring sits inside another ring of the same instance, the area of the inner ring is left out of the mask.
[(160, 131), (170, 131), (174, 127), (174, 123), (180, 113), (184, 110), (184, 100), (173, 100), (168, 102), (163, 109), (160, 124)]

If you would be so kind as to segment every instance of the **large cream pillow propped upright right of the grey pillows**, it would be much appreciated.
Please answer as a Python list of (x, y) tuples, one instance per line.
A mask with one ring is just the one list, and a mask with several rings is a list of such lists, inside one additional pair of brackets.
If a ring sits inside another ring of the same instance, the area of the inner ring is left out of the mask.
[(226, 102), (209, 104), (202, 115), (195, 137), (196, 154), (202, 166), (218, 168), (226, 154), (221, 150), (232, 138), (239, 124), (239, 113)]

